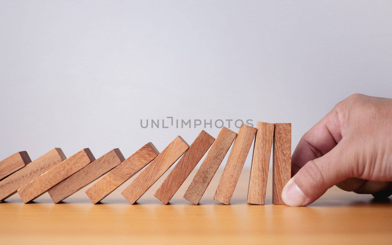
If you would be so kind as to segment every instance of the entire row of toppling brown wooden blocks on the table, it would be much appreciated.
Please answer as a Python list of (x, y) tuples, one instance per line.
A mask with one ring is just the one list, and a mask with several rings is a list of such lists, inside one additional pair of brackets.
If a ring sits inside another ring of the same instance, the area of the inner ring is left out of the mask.
[(48, 192), (59, 203), (108, 172), (85, 192), (95, 204), (147, 165), (122, 192), (133, 204), (183, 155), (154, 194), (167, 204), (211, 147), (183, 196), (197, 205), (234, 142), (214, 196), (229, 204), (254, 138), (248, 203), (264, 205), (273, 145), (272, 202), (283, 204), (281, 191), (291, 174), (291, 124), (264, 122), (257, 128), (243, 124), (238, 134), (223, 127), (216, 139), (201, 131), (190, 146), (177, 136), (161, 153), (147, 143), (127, 159), (119, 149), (95, 159), (88, 148), (69, 158), (54, 148), (33, 162), (27, 152), (17, 152), (0, 162), (0, 201), (18, 192), (27, 203)]

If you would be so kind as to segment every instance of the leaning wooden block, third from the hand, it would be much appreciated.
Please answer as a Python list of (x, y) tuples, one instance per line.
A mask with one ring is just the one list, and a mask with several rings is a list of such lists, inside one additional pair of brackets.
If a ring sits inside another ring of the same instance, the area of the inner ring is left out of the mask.
[(241, 125), (225, 169), (223, 169), (221, 179), (218, 183), (218, 188), (216, 188), (214, 200), (227, 205), (230, 204), (231, 197), (234, 193), (234, 189), (236, 188), (238, 178), (240, 178), (242, 168), (248, 156), (250, 145), (252, 145), (256, 131), (257, 129), (254, 127), (250, 127), (246, 124)]

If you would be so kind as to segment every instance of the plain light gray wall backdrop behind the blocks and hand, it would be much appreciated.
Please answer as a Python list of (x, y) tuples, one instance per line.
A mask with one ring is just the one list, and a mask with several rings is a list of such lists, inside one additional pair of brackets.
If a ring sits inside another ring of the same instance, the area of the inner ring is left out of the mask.
[(192, 143), (140, 127), (167, 116), (291, 122), (294, 149), (346, 96), (392, 97), (392, 2), (2, 0), (0, 57), (0, 159)]

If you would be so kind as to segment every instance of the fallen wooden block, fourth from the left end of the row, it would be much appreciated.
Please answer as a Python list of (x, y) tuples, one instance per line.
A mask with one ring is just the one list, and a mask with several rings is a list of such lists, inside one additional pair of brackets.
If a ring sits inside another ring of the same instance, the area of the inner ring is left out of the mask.
[(59, 203), (98, 179), (124, 160), (121, 151), (118, 148), (113, 149), (49, 189), (48, 193), (54, 203)]

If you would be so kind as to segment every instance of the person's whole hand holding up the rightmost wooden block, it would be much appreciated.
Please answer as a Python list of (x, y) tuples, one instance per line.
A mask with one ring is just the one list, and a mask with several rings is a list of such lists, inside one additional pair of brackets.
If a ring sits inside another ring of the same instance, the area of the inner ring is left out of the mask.
[(306, 206), (333, 185), (387, 198), (392, 194), (392, 99), (353, 94), (306, 132), (292, 155), (288, 206)]

